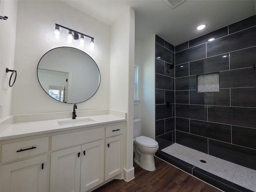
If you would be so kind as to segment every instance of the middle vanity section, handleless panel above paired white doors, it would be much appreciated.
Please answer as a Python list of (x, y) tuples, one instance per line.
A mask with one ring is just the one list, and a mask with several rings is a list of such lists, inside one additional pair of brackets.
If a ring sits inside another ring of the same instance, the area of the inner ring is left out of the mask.
[(51, 192), (85, 192), (104, 182), (104, 133), (99, 127), (52, 136), (53, 149), (88, 143), (52, 152)]

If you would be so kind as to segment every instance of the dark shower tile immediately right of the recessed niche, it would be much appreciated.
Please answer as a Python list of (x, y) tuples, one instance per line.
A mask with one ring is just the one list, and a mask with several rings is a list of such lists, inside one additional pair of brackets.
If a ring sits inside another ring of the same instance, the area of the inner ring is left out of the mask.
[(252, 68), (220, 72), (220, 88), (255, 86), (256, 70), (252, 70)]

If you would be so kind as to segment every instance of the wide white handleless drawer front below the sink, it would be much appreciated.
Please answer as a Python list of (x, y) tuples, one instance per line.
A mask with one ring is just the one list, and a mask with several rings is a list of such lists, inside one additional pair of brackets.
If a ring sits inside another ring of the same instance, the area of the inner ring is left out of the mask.
[(52, 151), (104, 138), (104, 127), (52, 136)]

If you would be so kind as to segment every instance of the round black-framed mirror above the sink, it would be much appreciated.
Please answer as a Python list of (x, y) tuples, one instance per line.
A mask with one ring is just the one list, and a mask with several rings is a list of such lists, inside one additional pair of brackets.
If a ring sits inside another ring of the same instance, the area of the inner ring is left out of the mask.
[(58, 47), (40, 59), (37, 77), (52, 98), (65, 103), (90, 99), (100, 86), (100, 71), (85, 52), (72, 47)]

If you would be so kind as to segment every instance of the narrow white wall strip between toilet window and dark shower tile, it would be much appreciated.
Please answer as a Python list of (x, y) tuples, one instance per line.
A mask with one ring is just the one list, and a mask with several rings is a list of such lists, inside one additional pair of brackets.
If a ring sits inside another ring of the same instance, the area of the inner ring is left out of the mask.
[(142, 41), (142, 135), (155, 139), (155, 35)]

